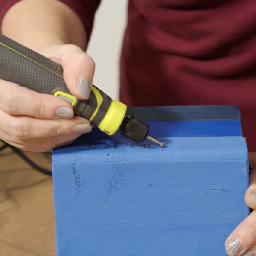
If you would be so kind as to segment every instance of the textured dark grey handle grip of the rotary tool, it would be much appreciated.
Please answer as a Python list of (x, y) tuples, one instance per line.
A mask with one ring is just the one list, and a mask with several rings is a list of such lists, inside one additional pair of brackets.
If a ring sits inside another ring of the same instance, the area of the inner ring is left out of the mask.
[[(39, 93), (53, 94), (56, 89), (70, 93), (60, 65), (1, 34), (0, 79)], [(87, 103), (78, 100), (74, 107), (76, 116), (81, 116)]]

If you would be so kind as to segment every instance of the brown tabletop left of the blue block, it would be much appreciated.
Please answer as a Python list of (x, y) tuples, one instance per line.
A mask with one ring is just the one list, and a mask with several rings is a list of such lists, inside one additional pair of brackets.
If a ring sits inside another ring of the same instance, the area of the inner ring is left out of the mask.
[[(49, 154), (26, 155), (51, 170)], [(52, 177), (10, 148), (0, 151), (0, 255), (56, 255)]]

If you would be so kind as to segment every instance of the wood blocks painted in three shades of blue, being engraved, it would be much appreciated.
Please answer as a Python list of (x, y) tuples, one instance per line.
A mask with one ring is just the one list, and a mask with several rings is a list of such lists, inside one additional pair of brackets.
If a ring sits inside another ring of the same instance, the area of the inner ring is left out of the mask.
[(239, 110), (129, 111), (163, 148), (95, 130), (54, 151), (57, 255), (226, 256), (227, 236), (249, 213)]

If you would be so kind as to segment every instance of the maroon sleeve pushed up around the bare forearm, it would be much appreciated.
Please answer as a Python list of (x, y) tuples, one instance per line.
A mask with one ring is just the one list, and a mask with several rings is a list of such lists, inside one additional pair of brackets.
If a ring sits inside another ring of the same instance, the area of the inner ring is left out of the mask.
[[(2, 26), (3, 16), (8, 9), (20, 0), (0, 0), (0, 28)], [(93, 28), (94, 14), (99, 6), (100, 0), (59, 0), (69, 6), (81, 19), (87, 33), (87, 41)]]

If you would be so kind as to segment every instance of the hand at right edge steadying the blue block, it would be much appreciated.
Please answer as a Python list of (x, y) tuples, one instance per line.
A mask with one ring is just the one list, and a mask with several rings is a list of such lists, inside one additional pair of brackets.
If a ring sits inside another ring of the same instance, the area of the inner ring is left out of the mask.
[(232, 256), (256, 255), (256, 153), (249, 152), (249, 162), (252, 169), (245, 202), (254, 210), (233, 230), (225, 242), (226, 251)]

